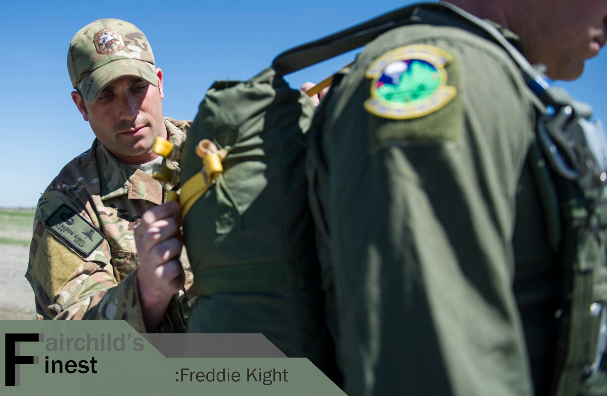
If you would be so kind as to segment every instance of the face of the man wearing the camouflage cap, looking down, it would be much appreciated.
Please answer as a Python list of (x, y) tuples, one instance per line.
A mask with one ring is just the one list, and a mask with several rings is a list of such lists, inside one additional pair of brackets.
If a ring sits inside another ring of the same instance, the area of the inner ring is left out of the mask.
[(156, 69), (158, 87), (135, 77), (110, 82), (89, 103), (72, 92), (78, 110), (95, 136), (123, 163), (140, 165), (157, 157), (154, 138), (166, 138), (162, 116), (162, 71)]

